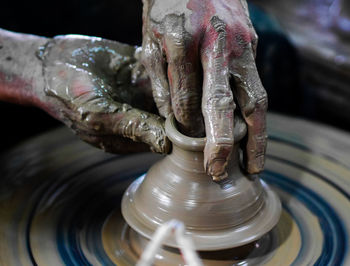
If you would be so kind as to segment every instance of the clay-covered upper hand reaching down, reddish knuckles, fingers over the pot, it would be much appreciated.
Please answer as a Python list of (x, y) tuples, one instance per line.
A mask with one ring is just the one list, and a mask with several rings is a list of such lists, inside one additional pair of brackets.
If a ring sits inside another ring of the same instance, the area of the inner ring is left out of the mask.
[(191, 136), (203, 134), (205, 124), (204, 165), (221, 180), (227, 176), (237, 103), (248, 127), (246, 170), (262, 171), (267, 96), (255, 66), (257, 35), (245, 0), (143, 3), (142, 62), (160, 114), (174, 112), (180, 130)]

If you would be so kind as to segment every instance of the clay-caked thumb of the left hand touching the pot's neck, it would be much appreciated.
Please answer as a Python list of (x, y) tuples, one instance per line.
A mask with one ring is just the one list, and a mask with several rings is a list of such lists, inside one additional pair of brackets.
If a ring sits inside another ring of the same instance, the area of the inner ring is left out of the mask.
[[(98, 110), (96, 106), (108, 106)], [(168, 153), (170, 143), (166, 137), (164, 120), (154, 114), (117, 102), (106, 103), (106, 99), (93, 99), (80, 108), (75, 117), (76, 127), (86, 135), (121, 136), (143, 142), (158, 153)], [(102, 143), (104, 144), (104, 143)], [(113, 147), (113, 146), (112, 146)], [(114, 152), (118, 152), (115, 150)]]

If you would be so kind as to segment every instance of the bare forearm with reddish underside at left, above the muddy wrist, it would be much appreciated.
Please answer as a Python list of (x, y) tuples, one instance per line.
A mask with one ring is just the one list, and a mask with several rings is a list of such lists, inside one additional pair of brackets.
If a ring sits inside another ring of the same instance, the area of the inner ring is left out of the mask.
[(44, 78), (37, 53), (47, 41), (0, 29), (1, 101), (44, 107)]

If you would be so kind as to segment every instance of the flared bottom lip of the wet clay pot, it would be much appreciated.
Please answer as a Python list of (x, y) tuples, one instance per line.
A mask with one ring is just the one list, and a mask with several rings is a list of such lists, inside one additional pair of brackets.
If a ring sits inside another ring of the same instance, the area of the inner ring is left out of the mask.
[[(152, 238), (154, 230), (148, 227), (142, 218), (142, 214), (135, 208), (135, 194), (145, 176), (135, 180), (127, 189), (122, 200), (122, 213), (128, 224), (140, 235), (148, 239)], [(249, 244), (268, 233), (278, 222), (281, 213), (281, 204), (278, 196), (262, 183), (265, 193), (265, 202), (258, 213), (248, 221), (238, 226), (229, 227), (221, 230), (187, 230), (194, 242), (197, 250), (221, 250), (235, 248)], [(173, 217), (176, 218), (176, 217)], [(177, 247), (177, 243), (172, 238), (168, 238), (165, 244), (169, 247)]]

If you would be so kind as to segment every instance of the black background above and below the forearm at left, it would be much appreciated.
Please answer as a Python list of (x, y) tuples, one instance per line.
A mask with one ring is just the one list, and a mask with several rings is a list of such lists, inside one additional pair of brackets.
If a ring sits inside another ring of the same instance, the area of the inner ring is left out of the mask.
[[(2, 1), (0, 28), (53, 37), (60, 34), (98, 36), (140, 45), (141, 0)], [(61, 125), (45, 112), (0, 103), (0, 150)]]

